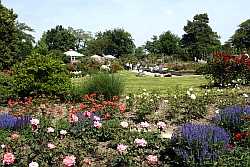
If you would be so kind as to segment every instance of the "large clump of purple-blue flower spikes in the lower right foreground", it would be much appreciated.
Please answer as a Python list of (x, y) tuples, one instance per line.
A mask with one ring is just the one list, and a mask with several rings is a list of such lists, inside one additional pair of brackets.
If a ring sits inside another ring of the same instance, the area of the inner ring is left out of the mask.
[(216, 165), (228, 147), (228, 134), (217, 126), (184, 124), (172, 136), (171, 143), (185, 166)]

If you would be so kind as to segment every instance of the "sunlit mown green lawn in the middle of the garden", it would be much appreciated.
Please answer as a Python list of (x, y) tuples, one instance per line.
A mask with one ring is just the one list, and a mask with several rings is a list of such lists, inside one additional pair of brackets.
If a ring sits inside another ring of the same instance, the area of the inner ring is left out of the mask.
[[(139, 89), (147, 89), (148, 92), (157, 91), (160, 95), (165, 95), (169, 91), (178, 89), (200, 89), (202, 85), (207, 85), (208, 81), (203, 76), (177, 76), (177, 77), (137, 77), (131, 71), (119, 71), (115, 75), (120, 75), (125, 83), (123, 95), (136, 93)], [(85, 78), (76, 78), (75, 82), (84, 81)]]

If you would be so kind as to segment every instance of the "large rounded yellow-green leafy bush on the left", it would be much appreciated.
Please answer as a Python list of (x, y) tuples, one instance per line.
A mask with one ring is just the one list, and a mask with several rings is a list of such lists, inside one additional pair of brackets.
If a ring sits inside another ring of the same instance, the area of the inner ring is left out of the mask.
[(68, 72), (61, 61), (52, 57), (32, 54), (14, 66), (14, 82), (19, 96), (68, 94), (71, 87)]

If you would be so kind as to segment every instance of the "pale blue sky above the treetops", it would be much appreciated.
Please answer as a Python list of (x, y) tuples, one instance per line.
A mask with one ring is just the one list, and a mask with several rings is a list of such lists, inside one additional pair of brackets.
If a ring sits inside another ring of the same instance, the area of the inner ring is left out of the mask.
[(36, 41), (42, 34), (62, 25), (96, 32), (123, 28), (144, 45), (153, 35), (171, 31), (182, 37), (187, 20), (207, 13), (209, 25), (224, 44), (250, 19), (250, 0), (1, 0), (18, 14), (18, 21), (35, 30)]

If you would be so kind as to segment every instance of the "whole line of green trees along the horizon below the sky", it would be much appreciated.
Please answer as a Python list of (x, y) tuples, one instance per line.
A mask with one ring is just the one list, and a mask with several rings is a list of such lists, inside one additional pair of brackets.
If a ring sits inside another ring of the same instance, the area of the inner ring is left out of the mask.
[(249, 52), (250, 48), (250, 19), (238, 26), (238, 29), (225, 42), (220, 43), (220, 36), (209, 26), (207, 13), (196, 14), (193, 20), (188, 20), (182, 37), (171, 31), (146, 41), (144, 45), (136, 47), (132, 35), (123, 28), (114, 28), (93, 34), (83, 29), (65, 28), (57, 25), (43, 33), (35, 42), (30, 35), (34, 29), (20, 23), (18, 15), (13, 9), (0, 4), (0, 70), (10, 69), (13, 64), (21, 62), (32, 52), (47, 55), (51, 52), (62, 60), (69, 49), (84, 55), (113, 55), (136, 56), (143, 59), (152, 55), (178, 56), (182, 60), (205, 59), (208, 55), (220, 51), (224, 53), (240, 54)]

